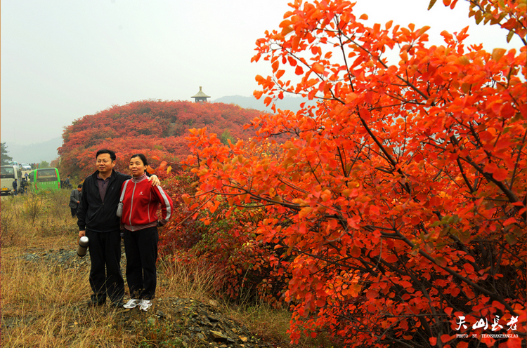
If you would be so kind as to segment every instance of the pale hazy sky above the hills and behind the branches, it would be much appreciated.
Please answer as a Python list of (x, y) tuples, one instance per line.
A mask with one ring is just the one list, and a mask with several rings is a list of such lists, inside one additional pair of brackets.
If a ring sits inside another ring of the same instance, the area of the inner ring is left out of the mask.
[[(145, 99), (191, 100), (203, 86), (214, 100), (252, 95), (254, 42), (278, 29), (293, 0), (6, 0), (1, 1), (1, 142), (58, 138), (63, 127), (112, 105)], [(455, 11), (437, 1), (358, 0), (370, 22), (470, 25), (470, 43), (507, 45), (506, 32), (476, 26), (466, 3)], [(516, 40), (516, 39), (515, 39)]]

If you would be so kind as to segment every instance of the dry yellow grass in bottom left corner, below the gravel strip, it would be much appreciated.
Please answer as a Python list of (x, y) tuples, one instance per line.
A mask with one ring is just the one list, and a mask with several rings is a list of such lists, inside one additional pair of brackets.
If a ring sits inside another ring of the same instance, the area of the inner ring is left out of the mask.
[[(108, 336), (101, 347), (114, 347), (110, 337), (115, 311), (82, 305), (89, 294), (88, 272), (2, 257), (3, 347), (93, 347), (93, 338)], [(115, 336), (115, 335), (113, 335)]]

